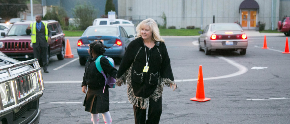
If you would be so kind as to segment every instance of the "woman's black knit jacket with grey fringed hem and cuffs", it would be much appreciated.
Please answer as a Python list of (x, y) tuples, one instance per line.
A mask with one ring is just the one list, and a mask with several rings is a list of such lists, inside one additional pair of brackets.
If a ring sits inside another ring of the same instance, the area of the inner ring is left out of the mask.
[[(143, 72), (148, 56), (149, 70)], [(116, 79), (117, 82), (128, 84), (128, 100), (131, 104), (141, 105), (145, 109), (150, 98), (157, 101), (162, 96), (164, 84), (175, 84), (165, 43), (156, 42), (149, 50), (144, 46), (142, 37), (133, 40), (126, 49)]]

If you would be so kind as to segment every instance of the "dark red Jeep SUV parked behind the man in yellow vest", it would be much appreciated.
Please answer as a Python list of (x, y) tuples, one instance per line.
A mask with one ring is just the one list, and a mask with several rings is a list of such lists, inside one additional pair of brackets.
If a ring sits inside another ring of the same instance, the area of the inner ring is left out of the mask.
[[(57, 59), (64, 59), (64, 33), (55, 20), (43, 21), (48, 23), (51, 30), (51, 42), (48, 48), (48, 57), (57, 55)], [(32, 21), (16, 22), (12, 25), (8, 33), (3, 34), (4, 38), (0, 39), (0, 51), (11, 58), (30, 59), (34, 58), (31, 43), (31, 34), (26, 34), (26, 28)]]

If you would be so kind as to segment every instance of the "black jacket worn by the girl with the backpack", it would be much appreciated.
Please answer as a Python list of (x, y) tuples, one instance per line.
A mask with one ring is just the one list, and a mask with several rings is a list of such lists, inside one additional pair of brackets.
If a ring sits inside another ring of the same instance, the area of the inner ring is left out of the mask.
[[(102, 89), (105, 86), (105, 78), (104, 76), (97, 70), (96, 67), (96, 59), (99, 56), (96, 56), (95, 58), (88, 56), (86, 59), (88, 60), (86, 62), (86, 68), (85, 73), (83, 77), (83, 82), (81, 83), (81, 87), (88, 85), (90, 89)], [(112, 77), (115, 77), (117, 75), (117, 69), (112, 67), (109, 63), (109, 60), (106, 59), (106, 57), (101, 57), (100, 59), (101, 67), (104, 70), (104, 73), (108, 77), (108, 74)], [(106, 85), (108, 87), (108, 85)]]

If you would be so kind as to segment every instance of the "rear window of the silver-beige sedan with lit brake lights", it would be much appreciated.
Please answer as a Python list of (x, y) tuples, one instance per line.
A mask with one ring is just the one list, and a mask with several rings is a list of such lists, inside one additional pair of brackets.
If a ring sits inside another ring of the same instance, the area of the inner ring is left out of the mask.
[(229, 23), (211, 25), (211, 31), (227, 31), (227, 30), (241, 30), (241, 28), (239, 25)]

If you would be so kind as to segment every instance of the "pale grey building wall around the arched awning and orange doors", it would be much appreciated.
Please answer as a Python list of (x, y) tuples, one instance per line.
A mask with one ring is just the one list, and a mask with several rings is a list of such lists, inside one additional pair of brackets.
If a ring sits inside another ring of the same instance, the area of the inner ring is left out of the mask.
[[(122, 1), (122, 2), (121, 2)], [(152, 18), (158, 24), (163, 25), (162, 12), (167, 17), (167, 27), (175, 26), (177, 29), (194, 25), (204, 28), (207, 24), (213, 23), (234, 23), (241, 22), (240, 4), (244, 0), (203, 0), (203, 25), (201, 25), (202, 0), (119, 0), (118, 6), (126, 6), (119, 9), (122, 16), (119, 18), (135, 20), (136, 23), (147, 18)], [(255, 0), (259, 4), (258, 21), (265, 22), (265, 29), (270, 29), (272, 0)], [(280, 0), (273, 0), (273, 26), (277, 28), (279, 20)], [(283, 1), (283, 0), (281, 0)], [(285, 1), (285, 0), (284, 0)], [(120, 5), (122, 4), (122, 5)], [(285, 6), (286, 7), (286, 6)], [(138, 21), (136, 21), (138, 20)]]

